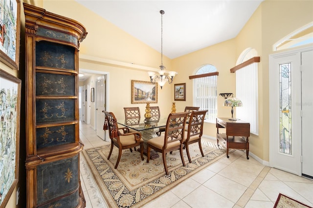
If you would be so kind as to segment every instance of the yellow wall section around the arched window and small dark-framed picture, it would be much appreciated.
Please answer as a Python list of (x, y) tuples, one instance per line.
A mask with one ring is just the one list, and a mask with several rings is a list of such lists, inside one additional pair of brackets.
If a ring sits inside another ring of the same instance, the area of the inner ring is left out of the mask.
[[(173, 68), (182, 75), (175, 78), (175, 82), (186, 83), (186, 102), (177, 102), (177, 110), (183, 111), (185, 106), (193, 106), (193, 80), (189, 80), (189, 76), (194, 75), (205, 64), (214, 65), (219, 72), (217, 94), (225, 92), (235, 94), (235, 75), (229, 72), (229, 69), (234, 67), (234, 62), (236, 62), (234, 39), (174, 59)], [(224, 98), (218, 96), (218, 116), (229, 117), (230, 108), (224, 107), (223, 102)], [(203, 134), (216, 137), (215, 123), (205, 123)]]

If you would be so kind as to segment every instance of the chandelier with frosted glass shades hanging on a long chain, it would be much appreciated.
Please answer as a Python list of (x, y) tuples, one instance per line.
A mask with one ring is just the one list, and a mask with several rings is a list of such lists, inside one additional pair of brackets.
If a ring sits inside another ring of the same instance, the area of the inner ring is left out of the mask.
[(151, 83), (153, 84), (158, 83), (162, 89), (162, 87), (164, 86), (166, 82), (170, 84), (173, 82), (173, 78), (177, 74), (177, 72), (164, 70), (166, 68), (163, 65), (163, 15), (164, 15), (164, 11), (160, 10), (160, 14), (161, 14), (161, 65), (159, 66), (160, 70), (158, 71), (158, 74), (152, 71), (149, 71), (148, 74), (149, 74)]

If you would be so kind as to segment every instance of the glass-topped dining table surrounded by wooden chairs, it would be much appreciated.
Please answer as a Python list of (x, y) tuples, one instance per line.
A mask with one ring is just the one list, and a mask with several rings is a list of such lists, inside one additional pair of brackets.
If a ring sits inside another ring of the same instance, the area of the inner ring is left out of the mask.
[[(138, 131), (141, 133), (141, 138), (144, 141), (144, 154), (147, 155), (147, 141), (157, 137), (156, 132), (159, 131), (160, 127), (165, 127), (167, 122), (166, 118), (150, 119), (136, 118), (136, 119), (117, 119), (117, 124), (128, 127), (130, 130)], [(140, 149), (138, 149), (140, 151)], [(150, 152), (150, 160), (158, 158), (159, 155), (156, 151)]]

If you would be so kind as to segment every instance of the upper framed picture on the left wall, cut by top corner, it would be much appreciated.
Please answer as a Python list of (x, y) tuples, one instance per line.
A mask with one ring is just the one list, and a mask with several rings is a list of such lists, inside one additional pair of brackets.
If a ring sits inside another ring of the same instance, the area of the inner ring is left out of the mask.
[(0, 1), (3, 13), (0, 15), (0, 61), (19, 70), (21, 2)]

